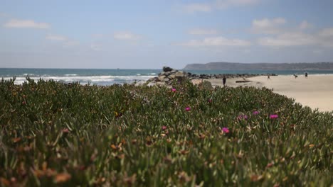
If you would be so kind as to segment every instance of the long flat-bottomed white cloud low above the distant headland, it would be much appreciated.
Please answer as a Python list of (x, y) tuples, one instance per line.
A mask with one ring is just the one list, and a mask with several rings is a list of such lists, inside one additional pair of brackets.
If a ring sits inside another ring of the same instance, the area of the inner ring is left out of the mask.
[(247, 40), (240, 39), (228, 39), (224, 37), (215, 37), (215, 38), (204, 38), (203, 40), (189, 40), (189, 42), (183, 42), (179, 45), (184, 46), (248, 46), (250, 42)]

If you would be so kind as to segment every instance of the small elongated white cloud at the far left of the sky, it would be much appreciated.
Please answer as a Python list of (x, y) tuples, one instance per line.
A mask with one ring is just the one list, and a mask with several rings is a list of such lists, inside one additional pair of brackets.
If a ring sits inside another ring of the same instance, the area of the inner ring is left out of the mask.
[(38, 28), (38, 29), (47, 29), (50, 28), (48, 23), (36, 23), (33, 20), (18, 20), (11, 19), (4, 24), (5, 28)]

